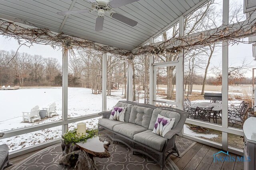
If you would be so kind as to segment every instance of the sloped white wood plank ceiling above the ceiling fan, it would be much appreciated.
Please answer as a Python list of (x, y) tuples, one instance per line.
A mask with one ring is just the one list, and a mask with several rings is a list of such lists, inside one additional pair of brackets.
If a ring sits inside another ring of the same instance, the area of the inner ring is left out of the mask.
[(56, 14), (91, 8), (86, 0), (76, 0), (74, 7), (73, 0), (0, 0), (0, 18), (26, 20), (37, 27), (131, 51), (200, 1), (202, 0), (139, 0), (115, 9), (137, 21), (135, 27), (105, 17), (102, 31), (94, 30), (97, 12), (72, 14), (66, 18)]

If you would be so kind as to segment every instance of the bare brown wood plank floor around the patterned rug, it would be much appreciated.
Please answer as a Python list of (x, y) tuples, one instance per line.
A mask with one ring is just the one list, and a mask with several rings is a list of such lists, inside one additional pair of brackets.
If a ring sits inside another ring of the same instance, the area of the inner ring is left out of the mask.
[[(9, 168), (6, 168), (6, 170), (10, 170), (16, 164), (18, 164), (28, 156), (38, 151), (39, 150), (10, 159), (10, 162), (13, 165)], [(219, 151), (220, 151), (219, 149), (210, 147), (208, 145), (196, 143), (181, 158), (178, 158), (172, 155), (171, 159), (178, 166), (180, 170), (243, 170), (244, 169), (243, 163), (238, 162), (237, 155), (232, 153), (230, 153), (230, 155), (236, 157), (236, 162), (214, 162), (212, 155)], [(225, 156), (225, 154), (220, 153), (219, 156)]]

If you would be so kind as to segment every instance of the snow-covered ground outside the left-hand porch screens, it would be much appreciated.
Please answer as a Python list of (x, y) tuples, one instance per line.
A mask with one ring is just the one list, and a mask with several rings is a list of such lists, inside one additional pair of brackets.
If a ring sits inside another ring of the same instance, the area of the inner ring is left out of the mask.
[[(91, 94), (88, 88), (68, 88), (68, 117), (78, 117), (102, 111), (102, 95)], [(125, 100), (121, 90), (113, 90), (112, 96), (107, 96), (107, 109), (112, 109), (119, 100)], [(58, 116), (36, 121), (35, 123), (22, 123), (22, 111), (30, 111), (38, 105), (41, 108), (56, 103)], [(0, 132), (29, 127), (33, 125), (58, 121), (62, 119), (62, 88), (28, 88), (18, 90), (0, 90)], [(87, 127), (96, 127), (98, 118), (87, 121)], [(74, 128), (76, 123), (69, 124)], [(42, 143), (61, 137), (62, 127), (53, 127), (16, 137), (2, 139), (0, 144), (6, 143), (10, 151), (22, 149), (31, 145)]]

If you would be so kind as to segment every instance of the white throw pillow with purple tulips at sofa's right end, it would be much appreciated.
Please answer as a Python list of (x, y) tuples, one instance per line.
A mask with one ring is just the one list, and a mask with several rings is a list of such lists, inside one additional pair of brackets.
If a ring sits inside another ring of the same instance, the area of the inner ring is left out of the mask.
[(170, 131), (174, 125), (175, 118), (168, 118), (158, 114), (156, 123), (154, 125), (153, 133), (164, 137), (164, 135)]

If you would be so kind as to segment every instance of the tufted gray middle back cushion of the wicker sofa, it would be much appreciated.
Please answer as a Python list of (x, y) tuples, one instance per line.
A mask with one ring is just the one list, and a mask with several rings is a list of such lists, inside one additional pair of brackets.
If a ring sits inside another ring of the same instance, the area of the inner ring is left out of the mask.
[(129, 123), (134, 123), (148, 129), (153, 109), (140, 106), (132, 106)]

